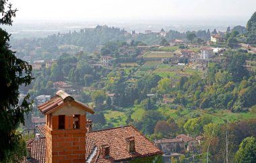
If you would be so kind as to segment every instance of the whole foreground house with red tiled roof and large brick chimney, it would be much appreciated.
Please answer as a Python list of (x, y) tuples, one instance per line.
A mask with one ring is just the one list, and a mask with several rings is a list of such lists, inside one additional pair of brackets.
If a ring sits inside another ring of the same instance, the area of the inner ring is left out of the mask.
[(27, 141), (28, 156), (22, 162), (129, 162), (155, 160), (162, 155), (148, 138), (132, 126), (92, 131), (86, 113), (94, 111), (64, 91), (38, 105), (46, 125), (36, 129), (40, 137)]

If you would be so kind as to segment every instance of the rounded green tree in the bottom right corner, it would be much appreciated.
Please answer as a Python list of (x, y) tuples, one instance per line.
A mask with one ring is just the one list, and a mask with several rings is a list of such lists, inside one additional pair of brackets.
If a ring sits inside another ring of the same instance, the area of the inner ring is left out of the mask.
[(248, 137), (241, 142), (239, 150), (236, 152), (235, 160), (238, 163), (255, 162), (256, 160), (256, 139)]

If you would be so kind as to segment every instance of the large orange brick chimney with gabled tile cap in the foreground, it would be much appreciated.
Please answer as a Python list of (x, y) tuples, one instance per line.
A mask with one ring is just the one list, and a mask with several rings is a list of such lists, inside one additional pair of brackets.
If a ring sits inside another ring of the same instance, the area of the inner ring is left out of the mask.
[(46, 162), (86, 162), (86, 112), (94, 111), (64, 91), (38, 108), (46, 117)]

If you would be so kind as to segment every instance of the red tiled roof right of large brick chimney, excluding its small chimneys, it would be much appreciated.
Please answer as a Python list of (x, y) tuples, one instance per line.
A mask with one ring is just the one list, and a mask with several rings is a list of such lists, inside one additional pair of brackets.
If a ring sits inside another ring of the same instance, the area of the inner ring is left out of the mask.
[[(127, 138), (133, 137), (135, 140), (135, 152), (127, 152)], [(133, 160), (134, 158), (141, 158), (146, 156), (155, 156), (162, 154), (148, 138), (143, 136), (137, 129), (132, 126), (116, 127), (110, 129), (102, 129), (99, 131), (90, 131), (86, 133), (86, 140), (90, 140), (97, 146), (97, 153), (92, 160), (94, 162), (113, 162), (121, 160)], [(109, 157), (104, 158), (101, 152), (102, 145), (107, 144), (110, 148)], [(90, 145), (86, 148), (94, 148)], [(88, 149), (92, 151), (92, 149)], [(88, 159), (88, 154), (86, 155)]]

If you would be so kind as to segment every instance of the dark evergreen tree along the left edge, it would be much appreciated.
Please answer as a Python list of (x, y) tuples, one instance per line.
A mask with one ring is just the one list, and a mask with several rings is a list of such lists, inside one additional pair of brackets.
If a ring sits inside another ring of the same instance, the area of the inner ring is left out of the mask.
[[(11, 25), (11, 17), (15, 17), (17, 9), (11, 9), (7, 1), (1, 1), (0, 12), (2, 17), (0, 24)], [(30, 85), (32, 81), (32, 66), (15, 56), (9, 45), (10, 35), (0, 28), (0, 162), (13, 157), (15, 151), (20, 150), (19, 144), (22, 139), (20, 133), (15, 130), (20, 123), (24, 123), (24, 113), (32, 108), (29, 94), (19, 104), (19, 87)], [(8, 162), (8, 161), (7, 161)]]

